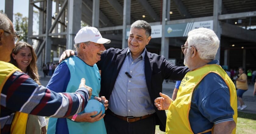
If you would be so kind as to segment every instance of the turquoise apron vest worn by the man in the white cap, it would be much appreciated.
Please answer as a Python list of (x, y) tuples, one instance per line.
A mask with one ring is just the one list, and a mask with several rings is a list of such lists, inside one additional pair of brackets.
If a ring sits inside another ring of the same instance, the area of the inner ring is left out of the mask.
[[(87, 65), (84, 61), (82, 61), (77, 56), (72, 56), (63, 62), (66, 62), (70, 71), (70, 80), (66, 89), (66, 92), (74, 93), (78, 89), (81, 79), (84, 78), (86, 81), (86, 85), (92, 88), (91, 99), (94, 99), (95, 96), (99, 96), (100, 88), (101, 88), (101, 76), (99, 74), (99, 69), (96, 64), (93, 66)], [(63, 72), (65, 73), (65, 72)], [(84, 111), (79, 114), (84, 113)], [(47, 133), (55, 133), (56, 122), (58, 118), (50, 118)], [(67, 125), (69, 129), (69, 133), (73, 134), (106, 134), (106, 128), (104, 120), (101, 119), (97, 122), (74, 122), (68, 118)]]

